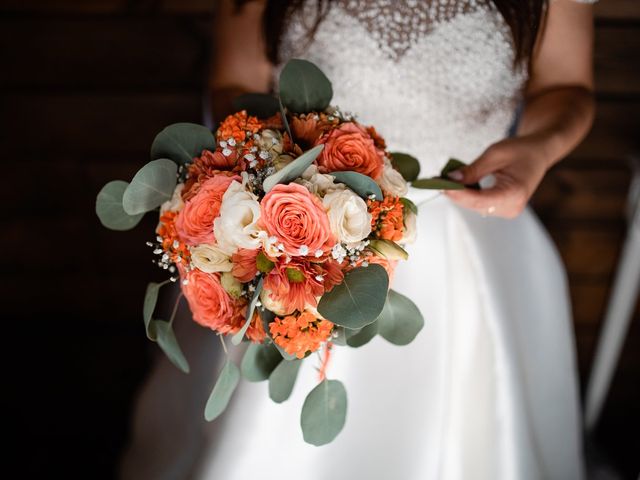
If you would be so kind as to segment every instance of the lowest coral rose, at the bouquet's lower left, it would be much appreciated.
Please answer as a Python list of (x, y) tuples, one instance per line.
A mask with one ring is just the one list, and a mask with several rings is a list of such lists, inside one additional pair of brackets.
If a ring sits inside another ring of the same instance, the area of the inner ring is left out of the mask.
[(191, 270), (184, 276), (182, 293), (189, 302), (193, 319), (200, 325), (225, 332), (236, 315), (234, 301), (220, 283), (217, 273)]

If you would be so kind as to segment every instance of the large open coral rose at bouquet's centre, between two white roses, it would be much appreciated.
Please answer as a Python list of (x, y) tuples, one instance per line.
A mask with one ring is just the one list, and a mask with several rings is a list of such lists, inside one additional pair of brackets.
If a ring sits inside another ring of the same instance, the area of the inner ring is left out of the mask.
[(288, 255), (319, 256), (335, 244), (322, 202), (302, 185), (276, 185), (260, 209), (265, 230)]

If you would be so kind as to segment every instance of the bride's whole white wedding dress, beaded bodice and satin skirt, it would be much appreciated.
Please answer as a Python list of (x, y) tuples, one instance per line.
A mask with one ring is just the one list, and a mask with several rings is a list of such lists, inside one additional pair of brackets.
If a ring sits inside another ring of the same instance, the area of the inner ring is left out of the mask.
[[(332, 103), (374, 125), (391, 151), (417, 157), (421, 176), (450, 157), (471, 162), (507, 135), (527, 71), (514, 69), (509, 28), (491, 2), (336, 0), (308, 40), (314, 8), (307, 0), (293, 18), (283, 60), (316, 63), (332, 80)], [(393, 288), (424, 315), (414, 342), (376, 337), (333, 350), (328, 377), (344, 383), (348, 413), (326, 446), (304, 443), (300, 430), (318, 382), (315, 355), (283, 404), (269, 399), (266, 382), (241, 382), (208, 433), (206, 397), (191, 402), (184, 423), (199, 425), (192, 430), (204, 443), (189, 478), (583, 478), (569, 295), (547, 232), (529, 209), (505, 220), (430, 191), (409, 197), (418, 239)], [(202, 388), (219, 365), (206, 365)], [(160, 383), (158, 395), (168, 388)], [(164, 473), (153, 478), (187, 476)]]

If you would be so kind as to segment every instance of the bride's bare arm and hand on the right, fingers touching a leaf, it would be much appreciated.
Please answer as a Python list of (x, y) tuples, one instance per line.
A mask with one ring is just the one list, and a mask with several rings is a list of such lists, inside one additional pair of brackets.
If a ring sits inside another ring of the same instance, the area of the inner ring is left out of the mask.
[(515, 137), (490, 146), (452, 178), (465, 184), (494, 174), (494, 187), (449, 191), (456, 203), (483, 214), (520, 214), (546, 171), (573, 150), (594, 115), (593, 12), (571, 0), (550, 2), (531, 62), (525, 108)]

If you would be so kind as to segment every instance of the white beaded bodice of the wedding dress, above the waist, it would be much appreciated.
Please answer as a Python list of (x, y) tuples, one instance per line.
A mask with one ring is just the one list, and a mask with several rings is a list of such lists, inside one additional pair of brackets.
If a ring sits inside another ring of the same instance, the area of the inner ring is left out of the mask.
[(333, 103), (374, 125), (391, 150), (436, 174), (503, 138), (527, 79), (511, 32), (490, 0), (333, 0), (309, 39), (307, 0), (283, 36), (281, 58), (316, 63)]

